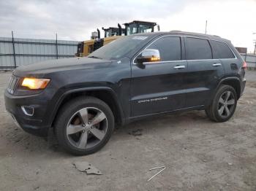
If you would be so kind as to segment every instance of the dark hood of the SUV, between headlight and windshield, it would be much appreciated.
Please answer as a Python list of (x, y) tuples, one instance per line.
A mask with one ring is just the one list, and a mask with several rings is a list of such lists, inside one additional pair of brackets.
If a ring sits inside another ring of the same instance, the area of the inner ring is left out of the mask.
[(109, 60), (98, 58), (64, 58), (59, 60), (33, 63), (27, 66), (19, 66), (18, 69), (13, 72), (13, 74), (18, 77), (42, 77), (44, 74), (55, 73), (58, 71), (105, 68), (108, 67), (110, 63), (111, 61)]

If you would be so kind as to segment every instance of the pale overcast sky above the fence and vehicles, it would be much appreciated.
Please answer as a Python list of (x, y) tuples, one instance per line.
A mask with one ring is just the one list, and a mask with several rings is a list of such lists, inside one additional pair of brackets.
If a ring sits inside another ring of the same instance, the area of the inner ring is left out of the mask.
[[(181, 30), (230, 39), (253, 50), (256, 0), (0, 0), (0, 36), (86, 40), (97, 28), (132, 20), (153, 21), (161, 31)], [(103, 34), (103, 31), (102, 31)]]

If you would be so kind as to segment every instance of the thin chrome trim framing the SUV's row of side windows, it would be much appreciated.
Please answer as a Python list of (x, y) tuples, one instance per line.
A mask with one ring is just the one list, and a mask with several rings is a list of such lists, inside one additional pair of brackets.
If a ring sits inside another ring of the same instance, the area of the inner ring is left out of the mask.
[[(148, 46), (146, 46), (143, 50), (145, 50), (147, 47), (149, 47), (151, 44), (153, 44), (154, 42), (156, 42), (158, 39), (162, 39), (162, 38), (165, 38), (165, 37), (188, 37), (188, 38), (195, 38), (195, 39), (206, 39), (206, 40), (212, 40), (212, 41), (217, 41), (217, 42), (222, 42), (222, 43), (225, 43), (227, 44), (227, 42), (224, 42), (224, 41), (221, 41), (221, 40), (217, 40), (217, 39), (208, 39), (208, 38), (204, 38), (204, 37), (199, 37), (199, 36), (187, 36), (187, 35), (165, 35), (165, 36), (160, 36), (159, 38), (157, 39), (154, 39), (153, 42), (151, 42), (150, 44), (148, 44)], [(212, 58), (212, 59), (200, 59), (200, 60), (177, 60), (177, 61), (157, 61), (157, 62), (145, 62), (145, 63), (170, 63), (170, 62), (191, 62), (191, 61), (219, 61), (219, 60), (235, 60), (235, 59), (238, 59), (236, 57), (236, 54), (233, 52), (233, 50), (230, 48), (230, 46), (227, 44), (227, 47), (229, 47), (229, 49), (231, 50), (231, 52), (233, 53), (233, 55), (235, 56), (235, 58)], [(132, 63), (133, 64), (138, 64), (138, 63), (135, 63), (135, 59), (138, 57), (138, 55), (140, 55), (141, 52), (143, 52), (143, 50), (141, 50), (136, 56), (135, 58), (133, 58), (132, 60)]]

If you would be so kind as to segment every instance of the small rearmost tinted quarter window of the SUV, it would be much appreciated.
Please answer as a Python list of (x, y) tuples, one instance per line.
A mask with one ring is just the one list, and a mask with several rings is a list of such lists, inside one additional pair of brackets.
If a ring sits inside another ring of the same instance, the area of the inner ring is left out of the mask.
[(228, 47), (224, 42), (211, 41), (211, 44), (213, 47), (214, 58), (235, 58), (235, 55), (230, 50), (230, 47)]

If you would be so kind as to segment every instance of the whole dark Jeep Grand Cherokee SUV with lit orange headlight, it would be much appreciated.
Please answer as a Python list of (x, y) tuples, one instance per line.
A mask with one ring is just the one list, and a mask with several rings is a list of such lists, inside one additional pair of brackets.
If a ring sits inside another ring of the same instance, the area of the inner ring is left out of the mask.
[(75, 155), (102, 148), (121, 125), (173, 111), (204, 109), (216, 122), (233, 116), (246, 63), (227, 39), (187, 32), (123, 36), (86, 58), (13, 71), (5, 104), (17, 124)]

